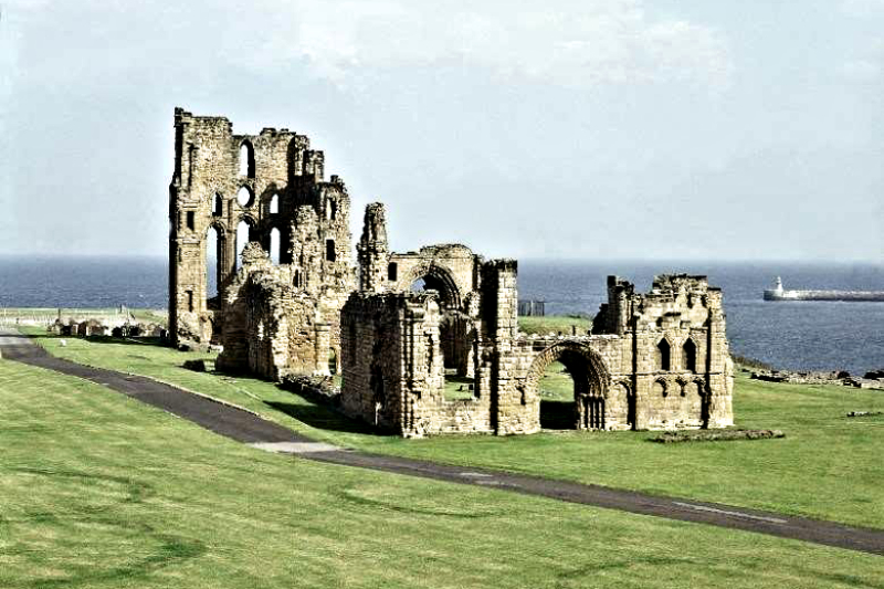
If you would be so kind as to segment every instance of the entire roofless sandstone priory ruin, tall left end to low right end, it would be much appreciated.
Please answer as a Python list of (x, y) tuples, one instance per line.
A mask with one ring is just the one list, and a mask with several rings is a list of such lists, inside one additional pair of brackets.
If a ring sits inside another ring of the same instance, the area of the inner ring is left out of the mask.
[[(341, 409), (406, 437), (539, 431), (539, 382), (554, 361), (573, 379), (577, 429), (733, 424), (722, 292), (705, 276), (656, 276), (646, 294), (610, 276), (590, 334), (528, 337), (514, 260), (460, 244), (391, 251), (381, 203), (366, 209), (357, 272), (347, 188), (325, 180), (307, 137), (234, 135), (227, 118), (181, 108), (175, 129), (170, 332), (175, 344), (221, 344), (220, 369), (341, 372)], [(239, 260), (238, 242), (248, 242)], [(471, 398), (445, 398), (455, 374)]]

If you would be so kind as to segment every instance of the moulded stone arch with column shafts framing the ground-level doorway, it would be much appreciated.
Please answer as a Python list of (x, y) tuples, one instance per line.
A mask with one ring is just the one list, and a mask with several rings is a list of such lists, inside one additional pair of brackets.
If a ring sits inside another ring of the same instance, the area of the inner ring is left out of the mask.
[[(573, 381), (570, 400), (545, 400), (540, 397), (540, 381), (547, 367), (561, 362)], [(578, 430), (608, 429), (606, 401), (610, 372), (602, 357), (579, 341), (556, 343), (539, 353), (528, 369), (525, 382), (526, 398), (537, 399), (537, 419), (540, 427), (564, 424)], [(546, 411), (545, 411), (546, 409)]]

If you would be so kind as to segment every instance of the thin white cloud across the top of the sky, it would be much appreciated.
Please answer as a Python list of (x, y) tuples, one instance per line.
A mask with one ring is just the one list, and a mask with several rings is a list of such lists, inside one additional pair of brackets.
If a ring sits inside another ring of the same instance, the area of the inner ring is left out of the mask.
[(275, 25), (264, 29), (249, 60), (266, 67), (306, 60), (314, 73), (339, 84), (373, 70), (461, 64), (566, 86), (728, 84), (726, 42), (709, 27), (652, 19), (640, 0), (559, 6), (262, 0), (257, 9)]

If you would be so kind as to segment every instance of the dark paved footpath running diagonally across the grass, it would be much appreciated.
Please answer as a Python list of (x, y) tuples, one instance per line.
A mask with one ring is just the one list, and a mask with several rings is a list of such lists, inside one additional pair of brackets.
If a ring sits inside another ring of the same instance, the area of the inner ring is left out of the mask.
[(486, 469), (451, 466), (397, 456), (369, 454), (316, 442), (259, 416), (222, 404), (149, 378), (114, 370), (90, 368), (50, 356), (25, 336), (0, 330), (2, 357), (81, 377), (141, 402), (188, 419), (221, 435), (272, 452), (298, 455), (306, 460), (341, 464), (409, 476), (420, 476), (466, 485), (485, 486), (570, 503), (653, 515), (682, 522), (757, 532), (884, 555), (884, 530), (860, 528), (774, 512), (734, 507), (677, 497), (660, 497), (633, 491), (556, 481)]

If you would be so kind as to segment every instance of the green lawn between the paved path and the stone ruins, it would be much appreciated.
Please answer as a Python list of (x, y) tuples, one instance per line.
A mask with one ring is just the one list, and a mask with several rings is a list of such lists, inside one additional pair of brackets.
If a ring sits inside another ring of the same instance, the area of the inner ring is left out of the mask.
[(845, 417), (854, 410), (884, 411), (881, 392), (737, 375), (737, 425), (780, 429), (787, 434), (781, 440), (654, 444), (648, 442), (653, 432), (576, 431), (402, 440), (373, 434), (271, 382), (181, 368), (185, 359), (207, 355), (107, 339), (67, 338), (66, 347), (55, 337), (38, 340), (52, 354), (172, 382), (350, 448), (884, 528), (884, 419)]

